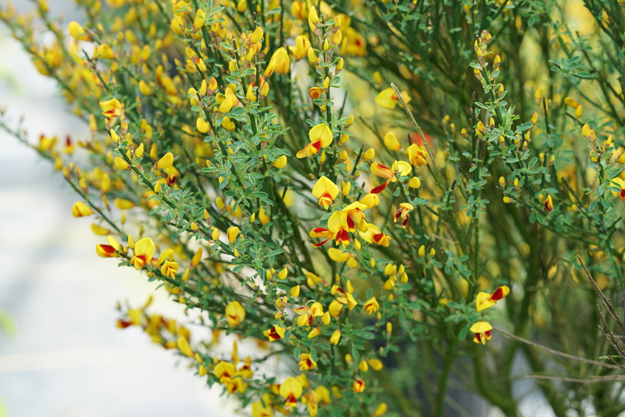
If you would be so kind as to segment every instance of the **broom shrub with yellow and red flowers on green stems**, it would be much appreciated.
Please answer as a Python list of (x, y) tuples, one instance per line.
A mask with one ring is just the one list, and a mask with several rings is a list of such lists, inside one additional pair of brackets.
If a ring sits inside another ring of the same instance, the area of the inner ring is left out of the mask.
[(0, 126), (201, 317), (119, 328), (252, 417), (517, 416), (519, 360), (558, 417), (624, 411), (622, 1), (76, 4), (0, 18), (91, 133)]

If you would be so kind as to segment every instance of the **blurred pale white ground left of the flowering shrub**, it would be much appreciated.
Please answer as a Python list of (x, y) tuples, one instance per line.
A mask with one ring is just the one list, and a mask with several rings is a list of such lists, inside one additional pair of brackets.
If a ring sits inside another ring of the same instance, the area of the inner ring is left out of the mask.
[[(51, 3), (71, 14), (71, 2)], [(32, 142), (39, 133), (79, 139), (86, 131), (0, 27), (5, 104), (13, 119), (26, 117)], [(176, 366), (171, 351), (139, 329), (116, 328), (116, 301), (140, 305), (154, 284), (96, 256), (101, 238), (88, 218), (72, 218), (76, 198), (49, 163), (4, 132), (0, 144), (0, 313), (11, 314), (16, 330), (7, 336), (0, 326), (0, 417), (232, 415), (236, 404)], [(163, 294), (154, 311), (183, 317)]]

